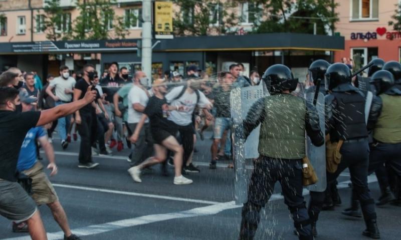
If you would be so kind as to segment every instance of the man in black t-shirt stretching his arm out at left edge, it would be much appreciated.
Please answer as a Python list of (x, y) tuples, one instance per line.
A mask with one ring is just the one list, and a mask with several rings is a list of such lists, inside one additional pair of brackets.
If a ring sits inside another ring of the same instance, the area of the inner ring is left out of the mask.
[(92, 102), (96, 92), (88, 91), (79, 101), (43, 111), (22, 111), (19, 91), (0, 87), (0, 215), (16, 222), (27, 221), (32, 239), (47, 239), (35, 202), (17, 182), (21, 145), (30, 128), (73, 113)]

